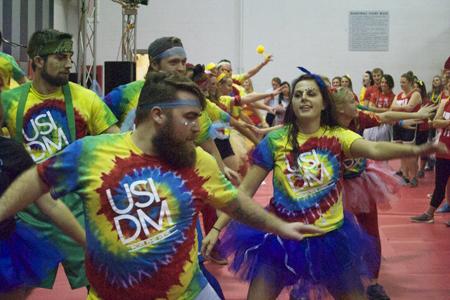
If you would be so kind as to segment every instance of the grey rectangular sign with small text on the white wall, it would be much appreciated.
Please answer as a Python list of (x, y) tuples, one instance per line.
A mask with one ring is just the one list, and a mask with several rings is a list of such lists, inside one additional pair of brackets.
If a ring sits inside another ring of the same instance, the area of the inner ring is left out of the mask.
[(389, 51), (389, 12), (350, 11), (350, 51)]

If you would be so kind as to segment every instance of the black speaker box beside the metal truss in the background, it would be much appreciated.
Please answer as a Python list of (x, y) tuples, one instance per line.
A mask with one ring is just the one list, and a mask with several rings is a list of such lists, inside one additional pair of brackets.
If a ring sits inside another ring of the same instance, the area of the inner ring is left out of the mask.
[(136, 80), (136, 63), (105, 61), (105, 95), (119, 85)]

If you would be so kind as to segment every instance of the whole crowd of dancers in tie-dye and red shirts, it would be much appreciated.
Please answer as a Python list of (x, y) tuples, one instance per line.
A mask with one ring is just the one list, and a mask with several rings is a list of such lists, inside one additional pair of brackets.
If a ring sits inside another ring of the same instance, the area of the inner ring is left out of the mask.
[[(52, 288), (62, 264), (88, 299), (224, 299), (210, 260), (249, 282), (248, 299), (389, 299), (378, 209), (433, 168), (411, 220), (433, 222), (445, 198), (450, 61), (429, 93), (407, 72), (395, 95), (375, 68), (358, 96), (349, 75), (305, 67), (256, 92), (271, 55), (235, 74), (161, 37), (145, 79), (100, 98), (69, 82), (70, 34), (37, 31), (27, 53), (31, 80), (0, 55), (2, 298)], [(263, 208), (252, 197), (269, 173)]]

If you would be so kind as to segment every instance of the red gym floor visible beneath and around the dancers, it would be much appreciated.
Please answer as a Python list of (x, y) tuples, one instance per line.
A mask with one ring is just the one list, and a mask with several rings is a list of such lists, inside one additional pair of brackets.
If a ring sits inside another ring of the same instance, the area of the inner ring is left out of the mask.
[[(397, 164), (394, 164), (397, 165)], [(262, 185), (256, 195), (259, 203), (265, 204), (272, 187)], [(380, 212), (380, 231), (383, 247), (383, 262), (380, 283), (393, 300), (450, 300), (450, 228), (444, 221), (450, 214), (436, 214), (435, 224), (414, 224), (409, 217), (422, 213), (428, 205), (427, 194), (431, 193), (434, 174), (426, 173), (417, 188), (402, 188), (402, 197), (392, 209)], [(247, 286), (238, 282), (227, 267), (207, 265), (222, 285), (227, 299), (245, 299)], [(70, 290), (62, 270), (53, 290), (36, 289), (32, 300), (77, 300), (85, 299), (86, 290)], [(283, 293), (279, 299), (288, 299)]]

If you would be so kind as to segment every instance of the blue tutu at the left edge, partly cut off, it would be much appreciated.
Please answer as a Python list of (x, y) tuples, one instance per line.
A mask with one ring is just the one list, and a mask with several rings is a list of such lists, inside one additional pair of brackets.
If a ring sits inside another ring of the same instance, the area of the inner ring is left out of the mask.
[(0, 293), (38, 286), (61, 260), (50, 242), (17, 222), (0, 237)]

